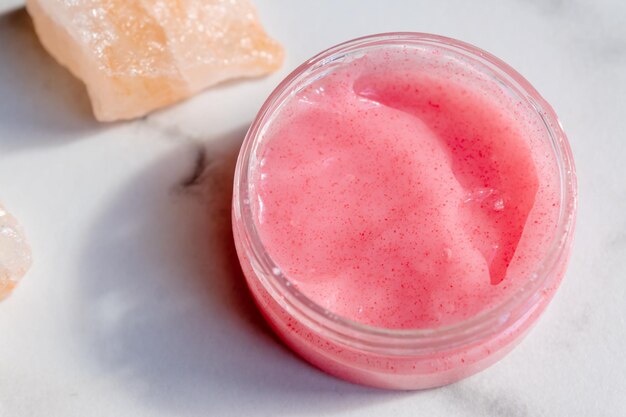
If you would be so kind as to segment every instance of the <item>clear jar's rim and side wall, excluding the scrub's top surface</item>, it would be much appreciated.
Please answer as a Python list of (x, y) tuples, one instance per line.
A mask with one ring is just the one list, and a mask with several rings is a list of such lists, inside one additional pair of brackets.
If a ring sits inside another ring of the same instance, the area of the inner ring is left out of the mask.
[[(300, 292), (272, 261), (253, 218), (251, 172), (272, 116), (294, 94), (330, 68), (368, 51), (393, 47), (436, 48), (489, 74), (528, 103), (545, 126), (559, 168), (560, 212), (545, 256), (521, 289), (495, 308), (432, 329), (388, 329), (340, 317)], [(565, 272), (576, 214), (576, 178), (567, 138), (550, 105), (504, 62), (457, 40), (421, 33), (389, 33), (355, 39), (322, 52), (298, 67), (270, 95), (242, 145), (233, 193), (233, 233), (254, 299), (274, 331), (320, 369), (355, 383), (390, 389), (437, 387), (472, 375), (508, 353), (554, 295)]]

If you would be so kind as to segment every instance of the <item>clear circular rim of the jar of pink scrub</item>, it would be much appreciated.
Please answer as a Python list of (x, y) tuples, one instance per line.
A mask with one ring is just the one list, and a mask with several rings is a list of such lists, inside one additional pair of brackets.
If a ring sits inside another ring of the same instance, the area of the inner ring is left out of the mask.
[[(272, 113), (272, 107), (288, 97), (286, 93), (295, 85), (299, 77), (305, 75), (307, 71), (343, 57), (344, 54), (354, 53), (371, 46), (398, 44), (433, 45), (447, 48), (464, 56), (480, 60), (481, 64), (486, 65), (498, 76), (506, 79), (510, 84), (509, 86), (515, 87), (543, 120), (549, 139), (552, 141), (560, 170), (559, 221), (549, 250), (532, 274), (535, 279), (529, 277), (529, 282), (518, 293), (513, 294), (497, 307), (481, 312), (467, 320), (439, 328), (389, 329), (375, 327), (335, 315), (324, 309), (300, 292), (280, 272), (278, 266), (265, 251), (256, 229), (252, 211), (249, 210), (249, 205), (245, 204), (245, 201), (249, 201), (248, 180), (250, 158), (254, 145), (260, 138), (262, 128)], [(234, 224), (234, 231), (239, 234), (236, 238), (246, 237), (244, 243), (246, 256), (251, 258), (250, 263), (257, 278), (276, 302), (292, 314), (297, 315), (300, 321), (315, 330), (325, 332), (328, 336), (334, 337), (348, 346), (367, 350), (391, 348), (399, 350), (401, 353), (406, 353), (408, 349), (408, 351), (416, 353), (423, 349), (450, 347), (455, 345), (455, 342), (462, 344), (469, 340), (487, 337), (502, 330), (502, 327), (506, 327), (507, 323), (510, 325), (511, 322), (515, 322), (519, 317), (511, 317), (511, 311), (519, 309), (525, 303), (529, 304), (533, 294), (545, 287), (546, 280), (553, 275), (561, 258), (567, 256), (573, 237), (577, 204), (576, 194), (577, 185), (572, 153), (556, 113), (517, 71), (488, 52), (452, 38), (418, 32), (382, 33), (353, 39), (321, 52), (296, 68), (270, 94), (248, 130), (237, 160), (233, 213), (238, 221)], [(532, 305), (521, 309), (519, 315), (523, 315), (530, 307)]]

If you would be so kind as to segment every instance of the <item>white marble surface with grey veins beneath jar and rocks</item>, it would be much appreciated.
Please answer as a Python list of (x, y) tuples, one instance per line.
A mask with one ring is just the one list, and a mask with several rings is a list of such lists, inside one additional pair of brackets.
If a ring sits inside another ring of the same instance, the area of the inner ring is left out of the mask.
[[(0, 0), (0, 201), (35, 255), (0, 304), (0, 416), (626, 416), (626, 3), (256, 3), (287, 48), (279, 73), (99, 124), (20, 1)], [(580, 182), (570, 267), (539, 324), (495, 366), (424, 392), (336, 380), (277, 342), (228, 219), (238, 148), (272, 88), (332, 44), (396, 30), (518, 69), (560, 115)]]

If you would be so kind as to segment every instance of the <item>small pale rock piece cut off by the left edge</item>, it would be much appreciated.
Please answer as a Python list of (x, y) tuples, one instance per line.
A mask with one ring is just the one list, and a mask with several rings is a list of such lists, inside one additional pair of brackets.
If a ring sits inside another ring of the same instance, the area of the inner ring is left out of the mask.
[(30, 247), (22, 228), (0, 205), (0, 300), (9, 295), (30, 264)]

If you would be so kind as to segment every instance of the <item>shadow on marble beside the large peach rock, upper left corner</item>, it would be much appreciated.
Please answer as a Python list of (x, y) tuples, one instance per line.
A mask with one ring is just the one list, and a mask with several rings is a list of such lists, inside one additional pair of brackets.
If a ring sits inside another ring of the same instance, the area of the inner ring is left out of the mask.
[(25, 9), (0, 15), (0, 152), (62, 145), (102, 129), (84, 85), (43, 49)]

